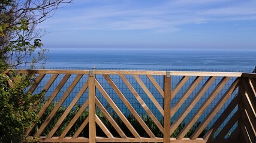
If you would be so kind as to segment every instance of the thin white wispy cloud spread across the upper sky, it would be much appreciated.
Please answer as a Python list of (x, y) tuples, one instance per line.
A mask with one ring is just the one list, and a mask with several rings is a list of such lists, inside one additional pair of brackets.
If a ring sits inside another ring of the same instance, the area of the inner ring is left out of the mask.
[(255, 6), (255, 1), (230, 0), (74, 1), (41, 27), (173, 32), (185, 24), (256, 20)]

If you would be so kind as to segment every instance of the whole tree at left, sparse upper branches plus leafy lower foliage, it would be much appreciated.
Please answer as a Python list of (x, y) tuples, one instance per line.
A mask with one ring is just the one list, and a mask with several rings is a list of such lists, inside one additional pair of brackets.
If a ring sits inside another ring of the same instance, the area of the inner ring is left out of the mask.
[(4, 73), (7, 67), (44, 63), (42, 30), (37, 25), (71, 0), (1, 0), (0, 1), (0, 142), (21, 142), (26, 130), (38, 122), (35, 102), (44, 91), (32, 94), (28, 89), (35, 75)]

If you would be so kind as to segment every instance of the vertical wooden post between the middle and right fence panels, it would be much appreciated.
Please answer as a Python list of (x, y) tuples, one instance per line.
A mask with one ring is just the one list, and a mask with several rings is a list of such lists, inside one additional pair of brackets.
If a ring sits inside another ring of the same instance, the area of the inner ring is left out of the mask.
[(164, 76), (164, 143), (170, 142), (170, 122), (171, 122), (171, 77), (170, 72)]

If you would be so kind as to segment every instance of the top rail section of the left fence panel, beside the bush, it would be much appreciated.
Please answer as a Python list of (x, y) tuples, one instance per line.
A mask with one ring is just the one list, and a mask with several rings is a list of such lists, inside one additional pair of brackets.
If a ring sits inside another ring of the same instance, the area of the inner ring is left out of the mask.
[(89, 70), (17, 70), (19, 73), (29, 74), (89, 74)]

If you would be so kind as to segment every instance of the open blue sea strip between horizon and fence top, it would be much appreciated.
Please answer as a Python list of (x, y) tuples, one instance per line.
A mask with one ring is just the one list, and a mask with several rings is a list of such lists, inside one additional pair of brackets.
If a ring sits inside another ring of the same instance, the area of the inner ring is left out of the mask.
[(253, 70), (256, 51), (50, 49), (46, 67)]

